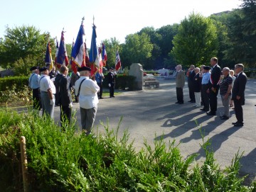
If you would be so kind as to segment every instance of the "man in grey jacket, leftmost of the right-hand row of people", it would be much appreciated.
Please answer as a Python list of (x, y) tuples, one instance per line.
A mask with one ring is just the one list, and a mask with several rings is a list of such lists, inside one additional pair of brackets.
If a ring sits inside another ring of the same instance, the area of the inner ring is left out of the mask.
[(176, 104), (183, 104), (183, 87), (185, 85), (185, 74), (182, 70), (181, 64), (176, 66), (176, 95), (177, 95), (177, 102)]

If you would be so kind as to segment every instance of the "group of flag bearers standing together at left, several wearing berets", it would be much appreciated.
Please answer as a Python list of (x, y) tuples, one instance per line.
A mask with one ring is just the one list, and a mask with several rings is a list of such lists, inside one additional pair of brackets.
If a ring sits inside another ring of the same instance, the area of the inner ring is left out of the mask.
[[(115, 74), (113, 68), (107, 74), (110, 98), (114, 97)], [(33, 108), (43, 111), (43, 115), (53, 118), (54, 107), (60, 106), (60, 124), (65, 131), (65, 123), (70, 123), (73, 99), (70, 88), (75, 91), (75, 101), (80, 103), (82, 131), (90, 135), (97, 113), (97, 103), (102, 98), (103, 74), (95, 74), (90, 79), (89, 67), (79, 67), (78, 73), (68, 76), (68, 67), (61, 66), (55, 77), (50, 78), (48, 67), (31, 67), (28, 86), (33, 90)], [(40, 75), (41, 74), (41, 75)], [(54, 81), (53, 81), (54, 80)]]

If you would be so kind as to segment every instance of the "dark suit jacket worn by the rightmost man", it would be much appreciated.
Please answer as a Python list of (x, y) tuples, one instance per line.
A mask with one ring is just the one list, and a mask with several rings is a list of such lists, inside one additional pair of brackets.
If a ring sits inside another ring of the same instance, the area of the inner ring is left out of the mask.
[(232, 89), (232, 99), (235, 101), (236, 96), (240, 96), (241, 105), (245, 105), (245, 85), (247, 77), (244, 72), (240, 73), (235, 79), (234, 86)]

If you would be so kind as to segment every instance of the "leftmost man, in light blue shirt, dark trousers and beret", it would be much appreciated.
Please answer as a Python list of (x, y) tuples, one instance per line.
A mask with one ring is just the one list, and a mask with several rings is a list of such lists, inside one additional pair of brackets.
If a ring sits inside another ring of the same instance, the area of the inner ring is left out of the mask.
[(32, 74), (28, 79), (28, 86), (33, 90), (33, 108), (41, 109), (40, 89), (39, 89), (39, 70), (38, 67), (31, 67)]

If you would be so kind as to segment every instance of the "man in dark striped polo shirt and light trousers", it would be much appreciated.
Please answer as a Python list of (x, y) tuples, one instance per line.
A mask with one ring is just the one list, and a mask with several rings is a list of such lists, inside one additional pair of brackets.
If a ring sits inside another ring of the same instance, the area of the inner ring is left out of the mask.
[(223, 68), (224, 79), (220, 83), (220, 96), (224, 106), (224, 113), (220, 115), (220, 119), (227, 120), (230, 117), (229, 105), (231, 98), (231, 90), (232, 90), (232, 81), (233, 79), (230, 77), (230, 69), (228, 67)]

